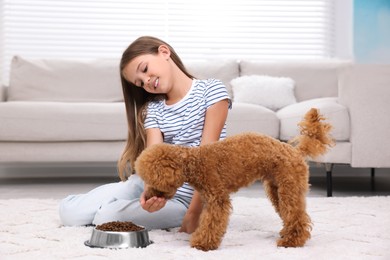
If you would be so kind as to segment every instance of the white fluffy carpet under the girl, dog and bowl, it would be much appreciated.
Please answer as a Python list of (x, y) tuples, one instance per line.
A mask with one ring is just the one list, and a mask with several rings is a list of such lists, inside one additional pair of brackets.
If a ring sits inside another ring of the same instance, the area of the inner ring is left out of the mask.
[(308, 198), (314, 228), (303, 248), (275, 246), (281, 221), (267, 199), (236, 197), (233, 207), (216, 251), (190, 248), (177, 229), (111, 250), (84, 246), (92, 227), (62, 227), (56, 200), (0, 200), (0, 259), (390, 259), (390, 197)]

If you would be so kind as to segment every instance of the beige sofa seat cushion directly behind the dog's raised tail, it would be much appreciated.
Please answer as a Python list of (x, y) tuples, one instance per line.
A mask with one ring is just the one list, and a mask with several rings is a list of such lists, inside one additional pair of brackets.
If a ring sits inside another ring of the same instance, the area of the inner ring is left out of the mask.
[(332, 137), (336, 141), (348, 141), (350, 119), (348, 109), (339, 104), (337, 98), (317, 98), (303, 101), (280, 109), (276, 115), (280, 119), (280, 139), (290, 140), (299, 134), (298, 123), (311, 108), (318, 108), (333, 129)]

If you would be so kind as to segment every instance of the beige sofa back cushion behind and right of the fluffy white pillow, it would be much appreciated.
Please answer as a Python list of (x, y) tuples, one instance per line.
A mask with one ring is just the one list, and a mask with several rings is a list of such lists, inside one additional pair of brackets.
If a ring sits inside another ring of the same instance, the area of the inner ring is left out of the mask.
[(351, 63), (347, 61), (241, 61), (240, 75), (290, 77), (295, 81), (295, 97), (304, 101), (321, 97), (337, 97), (338, 75)]

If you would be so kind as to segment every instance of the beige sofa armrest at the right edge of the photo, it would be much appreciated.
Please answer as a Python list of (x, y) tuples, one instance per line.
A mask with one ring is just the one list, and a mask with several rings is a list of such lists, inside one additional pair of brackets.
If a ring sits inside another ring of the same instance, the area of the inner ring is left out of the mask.
[(390, 167), (390, 65), (356, 64), (340, 75), (351, 118), (352, 167)]

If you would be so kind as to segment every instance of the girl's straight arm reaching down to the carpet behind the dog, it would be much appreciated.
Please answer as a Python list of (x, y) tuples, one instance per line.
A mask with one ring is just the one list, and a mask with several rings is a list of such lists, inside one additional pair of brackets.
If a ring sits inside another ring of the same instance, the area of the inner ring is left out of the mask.
[[(225, 125), (229, 110), (228, 100), (222, 100), (210, 106), (206, 111), (205, 124), (200, 145), (216, 142), (219, 140)], [(194, 192), (190, 206), (184, 216), (179, 232), (191, 234), (198, 227), (200, 213), (202, 212), (202, 199), (197, 191)]]

